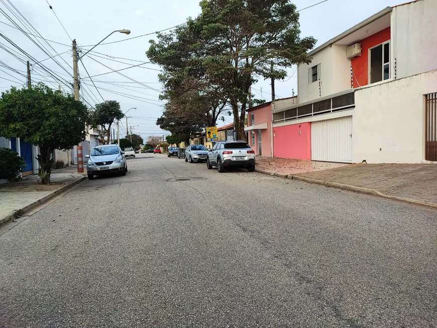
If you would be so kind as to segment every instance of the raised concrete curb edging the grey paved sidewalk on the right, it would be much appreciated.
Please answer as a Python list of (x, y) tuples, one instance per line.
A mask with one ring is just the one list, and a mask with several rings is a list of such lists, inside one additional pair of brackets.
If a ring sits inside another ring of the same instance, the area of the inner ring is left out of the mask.
[(339, 188), (339, 189), (345, 189), (345, 190), (349, 190), (349, 191), (365, 193), (365, 194), (368, 194), (368, 195), (378, 196), (378, 197), (382, 197), (382, 198), (386, 198), (386, 199), (391, 199), (391, 200), (398, 200), (398, 201), (402, 201), (404, 203), (415, 204), (415, 205), (422, 205), (422, 206), (426, 206), (426, 207), (437, 209), (437, 204), (434, 204), (434, 203), (427, 203), (425, 201), (421, 201), (421, 200), (417, 200), (417, 199), (410, 199), (410, 198), (403, 198), (403, 197), (387, 195), (387, 194), (382, 193), (382, 192), (380, 192), (378, 190), (375, 190), (375, 189), (351, 186), (349, 184), (344, 184), (344, 183), (340, 183), (340, 182), (331, 182), (331, 181), (323, 181), (323, 180), (318, 180), (318, 179), (312, 179), (312, 178), (307, 178), (307, 177), (299, 176), (299, 175), (289, 175), (288, 179), (299, 180), (299, 181), (304, 181), (304, 182), (309, 182), (309, 183), (322, 184), (322, 185), (330, 186), (330, 187), (334, 187), (334, 188)]

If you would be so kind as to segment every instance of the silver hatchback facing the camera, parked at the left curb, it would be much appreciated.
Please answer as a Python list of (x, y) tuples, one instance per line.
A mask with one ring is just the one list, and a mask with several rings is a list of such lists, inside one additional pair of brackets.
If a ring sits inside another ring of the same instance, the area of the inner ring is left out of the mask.
[(91, 155), (85, 155), (88, 158), (86, 171), (88, 179), (94, 179), (94, 175), (103, 175), (110, 173), (119, 173), (126, 175), (128, 164), (126, 158), (118, 145), (101, 145), (92, 149)]

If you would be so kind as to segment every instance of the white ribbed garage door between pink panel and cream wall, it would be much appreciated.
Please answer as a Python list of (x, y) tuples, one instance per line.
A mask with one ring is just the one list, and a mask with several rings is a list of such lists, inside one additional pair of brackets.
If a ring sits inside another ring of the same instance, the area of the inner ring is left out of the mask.
[(311, 123), (311, 159), (352, 163), (352, 116)]

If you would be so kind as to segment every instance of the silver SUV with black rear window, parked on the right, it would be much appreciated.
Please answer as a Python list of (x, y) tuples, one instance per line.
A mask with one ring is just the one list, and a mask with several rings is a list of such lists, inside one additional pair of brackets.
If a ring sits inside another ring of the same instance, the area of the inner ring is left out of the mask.
[(212, 166), (217, 171), (225, 172), (226, 167), (246, 167), (249, 172), (255, 171), (255, 152), (245, 141), (219, 141), (206, 158), (208, 170)]

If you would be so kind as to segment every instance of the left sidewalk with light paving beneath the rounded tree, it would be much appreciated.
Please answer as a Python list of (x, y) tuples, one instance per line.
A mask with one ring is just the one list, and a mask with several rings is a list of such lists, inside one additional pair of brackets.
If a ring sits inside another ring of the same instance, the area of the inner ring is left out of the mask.
[(77, 173), (75, 165), (53, 170), (51, 184), (38, 183), (37, 174), (23, 180), (0, 185), (0, 225), (43, 204), (76, 183), (85, 180), (86, 173)]

